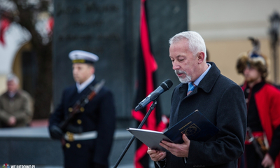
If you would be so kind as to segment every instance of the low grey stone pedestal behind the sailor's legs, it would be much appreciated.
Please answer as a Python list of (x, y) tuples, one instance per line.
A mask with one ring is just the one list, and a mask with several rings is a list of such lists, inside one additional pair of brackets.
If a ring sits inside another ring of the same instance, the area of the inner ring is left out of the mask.
[[(116, 164), (132, 134), (117, 130), (109, 162)], [(134, 144), (120, 162), (120, 167), (133, 165)], [(0, 165), (35, 165), (38, 167), (62, 167), (63, 153), (60, 141), (50, 139), (47, 127), (6, 128), (0, 130)]]

